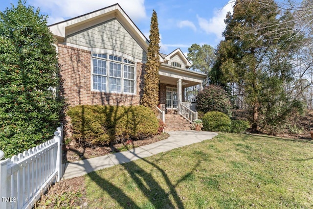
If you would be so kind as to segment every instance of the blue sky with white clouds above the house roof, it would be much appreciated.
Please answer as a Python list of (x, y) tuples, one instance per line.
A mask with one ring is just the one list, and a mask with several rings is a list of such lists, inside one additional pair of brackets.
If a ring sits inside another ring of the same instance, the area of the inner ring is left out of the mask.
[[(4, 1), (4, 2), (3, 2)], [(18, 0), (1, 0), (0, 11)], [(192, 44), (216, 47), (223, 39), (224, 18), (232, 11), (234, 0), (27, 0), (57, 23), (119, 3), (137, 27), (149, 37), (150, 20), (156, 10), (161, 36), (160, 52), (180, 48), (184, 53)]]

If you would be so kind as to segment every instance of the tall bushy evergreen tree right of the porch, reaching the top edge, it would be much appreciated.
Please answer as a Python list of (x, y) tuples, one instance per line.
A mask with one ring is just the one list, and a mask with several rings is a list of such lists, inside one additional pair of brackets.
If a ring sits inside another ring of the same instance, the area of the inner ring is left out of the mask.
[(227, 14), (211, 80), (235, 83), (244, 91), (254, 129), (261, 123), (280, 125), (292, 110), (301, 109), (284, 89), (293, 79), (292, 55), (301, 41), (291, 19), (274, 0), (236, 0)]

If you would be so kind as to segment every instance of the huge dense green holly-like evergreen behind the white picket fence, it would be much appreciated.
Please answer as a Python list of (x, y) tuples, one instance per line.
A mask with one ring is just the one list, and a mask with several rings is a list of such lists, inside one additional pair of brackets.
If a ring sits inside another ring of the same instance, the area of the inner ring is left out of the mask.
[(51, 139), (64, 101), (53, 35), (40, 10), (0, 12), (0, 149), (5, 157)]

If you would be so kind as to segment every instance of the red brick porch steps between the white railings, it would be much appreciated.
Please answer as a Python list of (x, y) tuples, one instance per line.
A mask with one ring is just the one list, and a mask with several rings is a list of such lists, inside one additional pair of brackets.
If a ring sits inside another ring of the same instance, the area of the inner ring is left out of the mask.
[(191, 123), (180, 115), (165, 114), (165, 131), (191, 130)]

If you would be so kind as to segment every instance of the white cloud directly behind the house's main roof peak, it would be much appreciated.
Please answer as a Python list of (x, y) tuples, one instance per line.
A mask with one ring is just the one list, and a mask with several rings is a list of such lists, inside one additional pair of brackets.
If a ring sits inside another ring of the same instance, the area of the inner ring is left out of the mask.
[(133, 21), (146, 18), (144, 0), (30, 0), (41, 10), (49, 12), (49, 24), (73, 18), (115, 3), (124, 9)]

